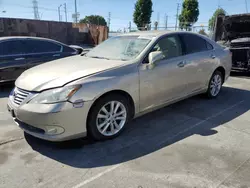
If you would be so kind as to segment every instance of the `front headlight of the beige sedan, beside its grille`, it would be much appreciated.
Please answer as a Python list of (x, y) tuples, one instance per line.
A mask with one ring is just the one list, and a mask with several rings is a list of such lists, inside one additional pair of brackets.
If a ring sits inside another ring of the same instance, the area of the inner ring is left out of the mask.
[(43, 91), (31, 99), (29, 103), (51, 104), (64, 102), (72, 97), (80, 88), (81, 85), (74, 85)]

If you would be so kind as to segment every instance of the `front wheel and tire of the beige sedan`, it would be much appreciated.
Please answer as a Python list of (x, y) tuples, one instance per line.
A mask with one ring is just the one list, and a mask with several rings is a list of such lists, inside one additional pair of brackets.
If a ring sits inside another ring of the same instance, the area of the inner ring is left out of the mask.
[(91, 108), (88, 118), (88, 134), (94, 140), (117, 137), (124, 130), (130, 116), (128, 100), (122, 95), (107, 95)]

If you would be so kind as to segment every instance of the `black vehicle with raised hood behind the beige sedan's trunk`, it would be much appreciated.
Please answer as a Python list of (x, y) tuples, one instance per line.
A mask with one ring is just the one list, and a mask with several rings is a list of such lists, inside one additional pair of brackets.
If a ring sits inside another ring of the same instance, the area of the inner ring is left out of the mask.
[(214, 39), (232, 52), (232, 70), (250, 72), (250, 15), (217, 17)]

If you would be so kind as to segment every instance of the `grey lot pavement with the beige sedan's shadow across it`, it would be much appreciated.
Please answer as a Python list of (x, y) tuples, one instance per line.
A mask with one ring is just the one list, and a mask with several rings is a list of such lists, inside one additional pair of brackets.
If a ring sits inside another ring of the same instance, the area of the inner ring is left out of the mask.
[(6, 109), (11, 87), (0, 91), (1, 188), (250, 187), (247, 75), (230, 77), (217, 99), (178, 102), (97, 143), (23, 134)]

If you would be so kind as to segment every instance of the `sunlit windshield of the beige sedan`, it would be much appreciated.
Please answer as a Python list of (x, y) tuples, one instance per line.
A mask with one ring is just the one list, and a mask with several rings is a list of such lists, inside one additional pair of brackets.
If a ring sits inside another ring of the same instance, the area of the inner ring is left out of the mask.
[(112, 37), (88, 52), (86, 56), (128, 61), (136, 58), (150, 41), (149, 38), (139, 36)]

